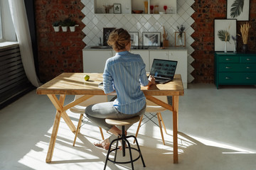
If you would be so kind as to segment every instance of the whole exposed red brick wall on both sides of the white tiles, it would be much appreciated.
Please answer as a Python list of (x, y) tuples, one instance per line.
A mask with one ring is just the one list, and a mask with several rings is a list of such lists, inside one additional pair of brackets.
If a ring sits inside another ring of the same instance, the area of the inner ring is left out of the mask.
[[(36, 28), (38, 36), (38, 61), (39, 77), (45, 82), (53, 79), (62, 72), (82, 72), (82, 48), (85, 43), (82, 39), (85, 34), (82, 28), (81, 9), (84, 6), (80, 0), (36, 0)], [(192, 38), (192, 47), (195, 51), (192, 57), (195, 61), (192, 63), (195, 78), (193, 83), (213, 83), (214, 81), (214, 30), (213, 22), (215, 18), (226, 18), (225, 0), (196, 0), (192, 5), (196, 11), (193, 13), (192, 28), (195, 30)], [(77, 21), (79, 27), (76, 27), (74, 33), (63, 33), (61, 30), (55, 33), (52, 27), (53, 21), (63, 20), (70, 17)], [(248, 49), (251, 52), (256, 51), (255, 43), (255, 18), (256, 18), (256, 0), (250, 0), (250, 38), (248, 40)], [(240, 24), (238, 21), (238, 33), (240, 33)], [(242, 47), (242, 40), (238, 40), (238, 52)]]

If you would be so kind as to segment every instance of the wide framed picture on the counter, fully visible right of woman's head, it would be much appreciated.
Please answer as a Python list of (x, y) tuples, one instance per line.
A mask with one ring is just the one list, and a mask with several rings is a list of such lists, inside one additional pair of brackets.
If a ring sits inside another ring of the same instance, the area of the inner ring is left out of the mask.
[(160, 32), (142, 32), (143, 46), (160, 46)]

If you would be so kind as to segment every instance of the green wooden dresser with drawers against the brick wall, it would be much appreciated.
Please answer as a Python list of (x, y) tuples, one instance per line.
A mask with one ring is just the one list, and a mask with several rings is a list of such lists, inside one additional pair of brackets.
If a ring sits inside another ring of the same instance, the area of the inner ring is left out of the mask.
[(256, 84), (256, 54), (215, 52), (215, 85)]

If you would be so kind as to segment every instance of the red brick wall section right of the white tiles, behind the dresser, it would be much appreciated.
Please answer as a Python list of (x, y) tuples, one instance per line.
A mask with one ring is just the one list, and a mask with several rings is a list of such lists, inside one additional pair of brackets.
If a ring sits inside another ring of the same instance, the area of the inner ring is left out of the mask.
[[(192, 8), (196, 11), (193, 13), (192, 28), (195, 33), (191, 35), (194, 38), (192, 47), (195, 51), (192, 57), (195, 59), (192, 63), (194, 71), (192, 76), (195, 78), (193, 83), (213, 83), (214, 81), (214, 28), (215, 18), (226, 18), (225, 0), (196, 0)], [(248, 50), (256, 52), (255, 43), (255, 18), (256, 18), (256, 0), (250, 0), (250, 36), (248, 40)], [(240, 24), (244, 21), (237, 22), (237, 30), (240, 34)], [(238, 40), (238, 52), (241, 51), (242, 39)], [(223, 47), (224, 48), (224, 47)]]

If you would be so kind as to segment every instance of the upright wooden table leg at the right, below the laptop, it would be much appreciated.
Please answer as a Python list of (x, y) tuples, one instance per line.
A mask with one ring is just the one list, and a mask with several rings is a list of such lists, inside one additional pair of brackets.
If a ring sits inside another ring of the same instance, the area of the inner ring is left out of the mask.
[(174, 164), (178, 164), (178, 96), (173, 96)]

